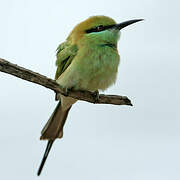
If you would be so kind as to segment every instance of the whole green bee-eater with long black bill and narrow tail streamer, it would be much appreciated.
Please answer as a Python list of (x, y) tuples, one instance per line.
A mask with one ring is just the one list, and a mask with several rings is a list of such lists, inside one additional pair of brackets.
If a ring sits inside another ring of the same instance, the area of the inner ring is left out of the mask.
[[(143, 19), (116, 23), (108, 16), (91, 16), (74, 27), (56, 51), (55, 80), (67, 91), (99, 92), (113, 85), (117, 78), (120, 55), (117, 43), (120, 30)], [(63, 137), (69, 110), (77, 99), (56, 94), (59, 101), (41, 131), (40, 140), (48, 140), (37, 175), (41, 174), (53, 142)]]

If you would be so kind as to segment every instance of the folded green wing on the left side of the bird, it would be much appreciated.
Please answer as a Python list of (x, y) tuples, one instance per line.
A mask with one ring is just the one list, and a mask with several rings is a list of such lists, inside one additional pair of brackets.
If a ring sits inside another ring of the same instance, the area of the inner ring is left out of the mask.
[(76, 56), (78, 51), (77, 45), (71, 45), (67, 41), (60, 44), (57, 48), (57, 60), (56, 60), (56, 75), (55, 80), (66, 70), (66, 68), (71, 64), (72, 60)]

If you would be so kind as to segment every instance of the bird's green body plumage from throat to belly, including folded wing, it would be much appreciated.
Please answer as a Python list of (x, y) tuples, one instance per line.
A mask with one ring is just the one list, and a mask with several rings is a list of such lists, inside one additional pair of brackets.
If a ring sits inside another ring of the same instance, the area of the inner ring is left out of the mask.
[(119, 31), (106, 30), (84, 34), (76, 44), (71, 39), (57, 53), (56, 81), (75, 90), (105, 90), (117, 76)]

